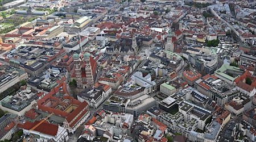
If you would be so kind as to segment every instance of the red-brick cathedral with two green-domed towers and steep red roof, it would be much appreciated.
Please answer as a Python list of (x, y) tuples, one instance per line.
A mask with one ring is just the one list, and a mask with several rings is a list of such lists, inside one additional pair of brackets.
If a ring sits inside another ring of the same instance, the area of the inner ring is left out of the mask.
[(75, 53), (73, 55), (73, 61), (74, 66), (71, 72), (71, 81), (75, 79), (77, 87), (80, 89), (91, 87), (94, 84), (97, 74), (97, 62), (89, 53), (85, 53), (82, 57)]

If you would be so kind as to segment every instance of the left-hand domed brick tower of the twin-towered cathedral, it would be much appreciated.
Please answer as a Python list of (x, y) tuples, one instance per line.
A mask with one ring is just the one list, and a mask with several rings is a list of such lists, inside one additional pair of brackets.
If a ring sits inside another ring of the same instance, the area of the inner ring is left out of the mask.
[(82, 88), (82, 74), (81, 74), (81, 59), (79, 54), (75, 53), (73, 55), (74, 65), (75, 65), (75, 76), (76, 76), (76, 83), (78, 88)]

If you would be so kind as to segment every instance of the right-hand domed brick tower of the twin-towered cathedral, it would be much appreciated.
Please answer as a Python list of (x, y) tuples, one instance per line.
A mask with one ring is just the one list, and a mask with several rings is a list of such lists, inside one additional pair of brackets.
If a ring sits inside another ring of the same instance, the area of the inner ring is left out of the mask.
[(94, 77), (92, 74), (92, 66), (90, 65), (90, 54), (84, 54), (84, 62), (85, 62), (85, 76), (86, 76), (86, 85), (92, 86), (94, 83)]

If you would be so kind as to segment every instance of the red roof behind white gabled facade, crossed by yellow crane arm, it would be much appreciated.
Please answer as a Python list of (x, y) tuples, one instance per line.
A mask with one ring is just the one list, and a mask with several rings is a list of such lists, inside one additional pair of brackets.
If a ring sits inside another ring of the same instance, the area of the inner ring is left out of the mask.
[[(25, 130), (31, 130), (36, 124), (40, 123), (39, 121), (35, 121), (34, 123), (25, 122), (24, 124), (18, 124), (17, 127), (23, 128)], [(55, 124), (49, 124), (48, 122), (43, 122), (38, 127), (36, 127), (33, 131), (37, 131), (40, 133), (44, 133), (46, 135), (56, 136), (58, 132), (59, 126)]]

